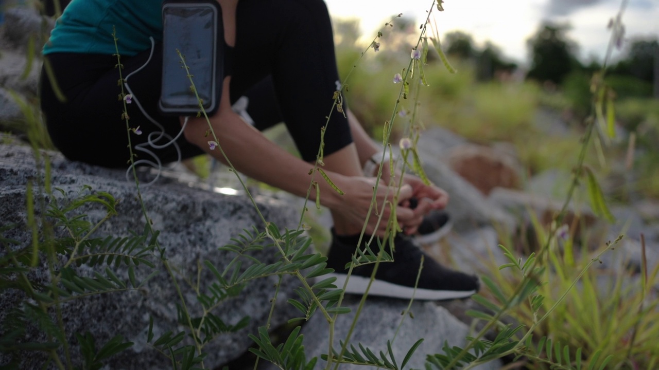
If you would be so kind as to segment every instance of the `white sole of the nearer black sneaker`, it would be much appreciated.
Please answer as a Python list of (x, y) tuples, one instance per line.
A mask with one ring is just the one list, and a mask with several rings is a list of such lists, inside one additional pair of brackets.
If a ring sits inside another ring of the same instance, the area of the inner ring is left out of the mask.
[[(335, 277), (336, 281), (334, 284), (341, 288), (343, 287), (343, 284), (345, 284), (347, 275), (331, 273), (326, 275), (326, 277)], [(370, 278), (353, 275), (350, 277), (350, 280), (348, 280), (348, 286), (345, 288), (345, 292), (351, 294), (364, 294), (369, 281)], [(476, 290), (430, 290), (420, 288), (415, 290), (414, 288), (392, 284), (391, 282), (374, 280), (368, 294), (370, 296), (404, 298), (407, 300), (414, 296), (415, 300), (443, 301), (469, 298), (476, 294)]]

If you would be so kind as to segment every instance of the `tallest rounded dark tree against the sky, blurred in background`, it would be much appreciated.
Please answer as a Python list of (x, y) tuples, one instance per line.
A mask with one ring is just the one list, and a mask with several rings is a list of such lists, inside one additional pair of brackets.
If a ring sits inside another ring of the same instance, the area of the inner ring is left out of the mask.
[(565, 76), (580, 65), (574, 57), (577, 43), (565, 35), (568, 30), (567, 24), (543, 22), (538, 32), (527, 40), (531, 59), (527, 78), (561, 84)]

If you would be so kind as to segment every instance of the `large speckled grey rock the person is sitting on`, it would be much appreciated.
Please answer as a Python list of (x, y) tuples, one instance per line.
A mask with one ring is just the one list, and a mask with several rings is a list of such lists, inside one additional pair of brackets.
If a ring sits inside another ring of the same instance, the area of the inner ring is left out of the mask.
[[(96, 232), (98, 236), (127, 236), (129, 232), (142, 232), (144, 218), (135, 197), (135, 185), (125, 180), (125, 171), (113, 171), (66, 161), (57, 153), (48, 153), (52, 163), (52, 186), (61, 188), (68, 196), (80, 192), (83, 185), (94, 190), (105, 191), (121, 199), (117, 206), (118, 215), (101, 225)], [(30, 233), (25, 230), (26, 222), (26, 183), (36, 178), (36, 165), (29, 147), (0, 145), (0, 224), (15, 224), (11, 230), (4, 232), (5, 238), (18, 240), (20, 245), (29, 245)], [(200, 304), (196, 302), (194, 290), (184, 281), (184, 277), (194, 282), (197, 278), (198, 263), (208, 260), (222, 271), (235, 255), (218, 248), (228, 244), (244, 228), (260, 225), (260, 219), (244, 197), (223, 196), (204, 190), (190, 188), (175, 182), (159, 181), (150, 187), (142, 188), (142, 197), (154, 227), (160, 231), (159, 243), (165, 249), (169, 264), (179, 275), (178, 283), (183, 287), (184, 296), (192, 314), (198, 314)], [(276, 199), (257, 199), (266, 220), (279, 228), (297, 225), (299, 215), (286, 203)], [(99, 220), (104, 213), (97, 207), (87, 209), (88, 217)], [(5, 250), (0, 251), (4, 255)], [(256, 251), (254, 257), (264, 263), (278, 260), (277, 251), (264, 248)], [(69, 342), (75, 343), (74, 332), (89, 330), (96, 336), (97, 343), (105, 343), (115, 334), (122, 334), (127, 340), (135, 342), (127, 352), (111, 361), (112, 369), (163, 369), (171, 367), (165, 357), (146, 346), (146, 329), (149, 316), (154, 317), (156, 337), (167, 330), (177, 332), (177, 307), (179, 302), (173, 288), (172, 280), (163, 269), (162, 263), (156, 261), (159, 275), (140, 288), (130, 292), (102, 294), (89, 298), (73, 300), (63, 305), (63, 320), (69, 335)], [(243, 267), (244, 269), (244, 267)], [(81, 275), (90, 275), (92, 269), (80, 267)], [(102, 271), (102, 270), (101, 270)], [(150, 269), (140, 265), (136, 277), (146, 277)], [(119, 271), (120, 278), (127, 281), (127, 272)], [(37, 280), (47, 281), (47, 271), (39, 270)], [(214, 281), (208, 268), (200, 275), (201, 290), (205, 292), (208, 284)], [(220, 336), (208, 344), (206, 365), (211, 368), (226, 363), (243, 354), (250, 346), (249, 332), (256, 332), (256, 327), (264, 325), (270, 312), (269, 299), (273, 296), (273, 283), (276, 278), (254, 280), (248, 284), (243, 293), (215, 309), (226, 323), (235, 324), (244, 316), (251, 317), (248, 327), (235, 333)], [(293, 278), (284, 280), (279, 292), (279, 304), (275, 309), (272, 326), (277, 327), (292, 317), (292, 306), (286, 304), (287, 298), (299, 282)], [(12, 290), (5, 290), (0, 298), (0, 320), (7, 309), (16, 304), (20, 295)], [(36, 339), (36, 338), (32, 338)], [(78, 352), (72, 351), (74, 354)], [(22, 368), (36, 368), (34, 357), (24, 359)], [(74, 357), (76, 361), (79, 356)], [(0, 364), (3, 359), (0, 357)], [(78, 365), (80, 363), (78, 362)]]

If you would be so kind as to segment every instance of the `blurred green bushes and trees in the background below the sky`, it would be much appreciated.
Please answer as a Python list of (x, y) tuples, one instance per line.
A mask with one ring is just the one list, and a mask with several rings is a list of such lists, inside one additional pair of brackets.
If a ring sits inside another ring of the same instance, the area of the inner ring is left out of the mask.
[[(364, 45), (358, 43), (358, 20), (334, 22), (343, 77)], [(547, 169), (571, 171), (585, 119), (592, 112), (591, 79), (602, 61), (579, 61), (578, 45), (569, 40), (568, 30), (565, 24), (540, 24), (527, 41), (528, 67), (508, 61), (492, 43), (476, 47), (465, 32), (446, 34), (442, 47), (458, 72), (447, 72), (438, 54), (430, 51), (424, 68), (430, 86), (421, 89), (417, 107), (420, 123), (426, 128), (442, 126), (480, 144), (509, 142), (529, 176)], [(374, 138), (382, 138), (382, 126), (394, 114), (399, 85), (392, 84), (393, 74), (407, 66), (416, 38), (418, 25), (397, 18), (378, 40), (380, 51), (366, 53), (350, 76), (347, 102)], [(608, 34), (602, 32), (602, 38)], [(627, 178), (624, 186), (610, 189), (613, 199), (659, 198), (656, 38), (626, 40), (606, 67), (605, 81), (615, 99), (616, 138), (600, 136), (603, 149), (587, 156), (588, 165), (602, 176)], [(399, 108), (412, 111), (411, 100), (401, 101)], [(403, 126), (395, 126), (392, 142), (403, 135)], [(626, 160), (629, 145), (631, 165)]]

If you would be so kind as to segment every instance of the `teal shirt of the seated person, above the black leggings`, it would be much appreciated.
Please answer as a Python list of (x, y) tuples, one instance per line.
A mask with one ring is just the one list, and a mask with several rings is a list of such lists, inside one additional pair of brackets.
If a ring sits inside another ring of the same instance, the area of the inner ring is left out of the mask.
[(136, 55), (162, 40), (162, 0), (73, 0), (43, 47), (49, 53)]

